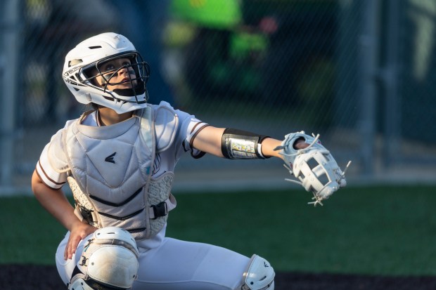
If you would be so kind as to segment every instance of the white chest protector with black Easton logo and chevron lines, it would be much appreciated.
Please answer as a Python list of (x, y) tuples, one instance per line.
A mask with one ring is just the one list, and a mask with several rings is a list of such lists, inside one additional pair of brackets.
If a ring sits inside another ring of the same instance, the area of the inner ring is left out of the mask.
[(151, 172), (156, 150), (174, 141), (178, 118), (172, 110), (156, 112), (166, 120), (158, 131), (158, 148), (151, 107), (111, 126), (84, 126), (82, 117), (66, 128), (68, 183), (81, 220), (96, 228), (124, 228), (135, 239), (148, 239), (162, 230), (168, 211), (177, 204), (170, 193), (174, 173), (152, 178)]

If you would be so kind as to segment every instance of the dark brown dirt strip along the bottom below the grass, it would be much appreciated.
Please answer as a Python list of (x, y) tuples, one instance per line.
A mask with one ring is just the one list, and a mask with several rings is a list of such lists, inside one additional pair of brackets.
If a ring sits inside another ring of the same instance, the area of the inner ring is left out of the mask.
[[(54, 266), (0, 265), (2, 290), (61, 290)], [(361, 275), (276, 273), (275, 290), (434, 290), (436, 277), (373, 277)], [(174, 289), (176, 290), (176, 289)]]

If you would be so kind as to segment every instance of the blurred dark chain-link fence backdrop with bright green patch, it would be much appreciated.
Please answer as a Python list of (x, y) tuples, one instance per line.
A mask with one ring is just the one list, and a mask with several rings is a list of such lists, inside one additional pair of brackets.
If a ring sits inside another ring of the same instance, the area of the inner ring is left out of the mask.
[[(65, 54), (101, 32), (151, 67), (149, 103), (282, 139), (320, 133), (350, 184), (436, 183), (433, 0), (4, 0), (0, 195), (30, 192), (44, 145), (85, 110)], [(182, 158), (174, 190), (288, 187), (280, 160)]]

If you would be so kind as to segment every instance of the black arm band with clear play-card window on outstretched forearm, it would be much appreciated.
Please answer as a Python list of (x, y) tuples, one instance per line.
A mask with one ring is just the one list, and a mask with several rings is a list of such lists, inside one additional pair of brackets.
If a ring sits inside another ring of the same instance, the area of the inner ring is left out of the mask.
[(227, 159), (265, 159), (262, 140), (268, 136), (226, 128), (222, 134), (221, 152)]

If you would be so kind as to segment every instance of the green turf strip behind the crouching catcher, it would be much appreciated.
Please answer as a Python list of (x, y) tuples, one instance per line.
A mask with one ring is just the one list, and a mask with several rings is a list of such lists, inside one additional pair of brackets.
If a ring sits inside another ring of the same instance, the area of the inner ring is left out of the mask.
[[(436, 275), (436, 187), (179, 194), (167, 236), (267, 258), (278, 271)], [(65, 230), (32, 197), (2, 198), (0, 263), (53, 264)]]

